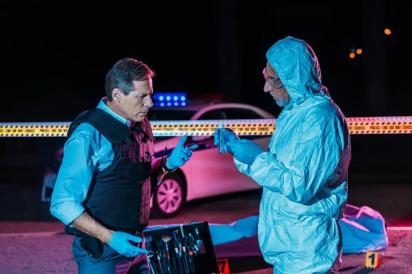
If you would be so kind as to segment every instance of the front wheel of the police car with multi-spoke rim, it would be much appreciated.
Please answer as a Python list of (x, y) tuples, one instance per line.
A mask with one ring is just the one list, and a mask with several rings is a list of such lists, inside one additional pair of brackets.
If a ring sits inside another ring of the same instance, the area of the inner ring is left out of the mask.
[(163, 218), (176, 216), (185, 203), (186, 189), (183, 179), (176, 173), (168, 173), (153, 195), (153, 210)]

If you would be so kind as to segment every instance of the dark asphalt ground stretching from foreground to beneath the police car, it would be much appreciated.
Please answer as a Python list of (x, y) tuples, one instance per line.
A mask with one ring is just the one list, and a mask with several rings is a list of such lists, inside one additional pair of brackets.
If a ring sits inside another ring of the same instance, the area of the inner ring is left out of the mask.
[[(62, 223), (49, 216), (49, 204), (40, 201), (40, 189), (19, 186), (16, 191), (16, 186), (2, 186), (2, 190), (0, 273), (77, 273), (71, 236), (62, 235)], [(365, 254), (344, 256), (341, 273), (412, 273), (412, 231), (391, 230), (412, 223), (411, 190), (412, 186), (393, 184), (350, 187), (350, 204), (374, 208), (387, 220), (389, 248), (379, 252), (377, 269), (365, 268)], [(232, 223), (258, 214), (259, 204), (260, 192), (203, 199), (188, 204), (173, 219), (151, 219), (150, 225)], [(262, 258), (231, 259), (229, 266), (231, 273), (273, 273)]]

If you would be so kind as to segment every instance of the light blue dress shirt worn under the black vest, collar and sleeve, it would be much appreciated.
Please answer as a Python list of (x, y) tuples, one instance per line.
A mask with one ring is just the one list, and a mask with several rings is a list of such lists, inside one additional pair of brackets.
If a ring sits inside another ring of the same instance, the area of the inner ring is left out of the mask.
[[(104, 97), (97, 108), (111, 114), (128, 127), (127, 119), (106, 105)], [(93, 126), (81, 123), (67, 139), (62, 164), (52, 193), (50, 212), (68, 225), (84, 212), (82, 203), (87, 197), (93, 173), (102, 171), (114, 158), (111, 143)]]

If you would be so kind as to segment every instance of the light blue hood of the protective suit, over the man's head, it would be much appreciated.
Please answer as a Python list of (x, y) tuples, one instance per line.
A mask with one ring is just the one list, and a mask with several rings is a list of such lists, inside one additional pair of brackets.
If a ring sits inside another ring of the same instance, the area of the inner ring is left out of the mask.
[(328, 90), (321, 82), (321, 69), (314, 51), (304, 40), (288, 36), (275, 43), (266, 52), (266, 58), (282, 80), (290, 97), (290, 108), (314, 95)]

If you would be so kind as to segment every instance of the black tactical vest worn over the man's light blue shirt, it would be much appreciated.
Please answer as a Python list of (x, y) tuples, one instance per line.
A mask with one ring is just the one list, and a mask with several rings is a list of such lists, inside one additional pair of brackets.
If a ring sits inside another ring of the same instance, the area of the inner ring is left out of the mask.
[(113, 162), (93, 175), (84, 208), (109, 229), (143, 231), (149, 222), (155, 140), (147, 117), (129, 129), (104, 110), (88, 110), (70, 124), (68, 137), (80, 123), (95, 127), (115, 153)]

